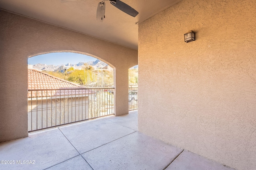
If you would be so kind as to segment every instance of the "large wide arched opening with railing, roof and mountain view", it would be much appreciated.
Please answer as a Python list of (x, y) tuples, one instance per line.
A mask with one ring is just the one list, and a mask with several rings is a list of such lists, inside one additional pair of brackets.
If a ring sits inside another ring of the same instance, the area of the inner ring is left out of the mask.
[(28, 131), (114, 114), (114, 70), (78, 53), (28, 58)]

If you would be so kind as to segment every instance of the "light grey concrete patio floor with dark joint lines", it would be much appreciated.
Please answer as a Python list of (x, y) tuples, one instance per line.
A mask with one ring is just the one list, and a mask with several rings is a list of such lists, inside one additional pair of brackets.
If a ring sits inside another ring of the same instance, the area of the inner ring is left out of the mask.
[(0, 143), (0, 160), (13, 163), (1, 170), (233, 170), (138, 132), (137, 111)]

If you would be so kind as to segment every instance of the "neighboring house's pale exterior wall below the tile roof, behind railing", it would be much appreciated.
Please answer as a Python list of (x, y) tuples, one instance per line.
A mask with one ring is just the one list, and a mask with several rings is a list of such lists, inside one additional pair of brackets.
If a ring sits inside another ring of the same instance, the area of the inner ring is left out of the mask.
[(88, 103), (88, 96), (28, 100), (28, 131), (89, 119)]

